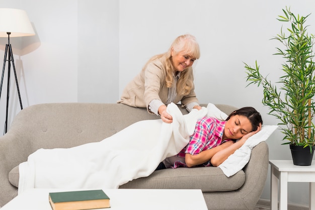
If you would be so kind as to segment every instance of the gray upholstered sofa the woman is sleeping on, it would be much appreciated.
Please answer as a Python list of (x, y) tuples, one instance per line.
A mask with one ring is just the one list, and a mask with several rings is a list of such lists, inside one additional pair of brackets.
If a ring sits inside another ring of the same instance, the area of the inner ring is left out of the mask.
[[(237, 109), (216, 106), (226, 114)], [(8, 133), (0, 137), (0, 206), (17, 196), (18, 165), (37, 149), (101, 141), (134, 122), (148, 119), (159, 117), (120, 103), (44, 103), (23, 109)], [(244, 169), (229, 178), (217, 167), (164, 169), (120, 188), (197, 188), (202, 189), (209, 209), (254, 209), (267, 171), (268, 146), (262, 142), (253, 149)]]

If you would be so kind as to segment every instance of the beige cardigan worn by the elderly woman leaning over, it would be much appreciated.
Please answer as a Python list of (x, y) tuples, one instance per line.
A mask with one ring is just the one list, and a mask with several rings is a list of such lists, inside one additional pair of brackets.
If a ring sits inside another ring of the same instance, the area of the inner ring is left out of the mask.
[[(163, 103), (166, 103), (168, 99), (168, 87), (166, 86), (166, 68), (163, 65), (161, 59), (156, 59), (149, 63), (146, 68), (144, 67), (141, 72), (130, 81), (118, 103), (124, 103), (131, 107), (147, 108), (148, 104), (153, 99), (159, 99)], [(189, 70), (189, 80), (194, 80), (192, 67), (189, 67), (185, 71)], [(174, 103), (181, 101), (182, 107), (185, 107), (190, 102), (197, 102), (196, 94), (193, 86), (188, 95), (177, 94)], [(149, 110), (148, 112), (152, 114)]]

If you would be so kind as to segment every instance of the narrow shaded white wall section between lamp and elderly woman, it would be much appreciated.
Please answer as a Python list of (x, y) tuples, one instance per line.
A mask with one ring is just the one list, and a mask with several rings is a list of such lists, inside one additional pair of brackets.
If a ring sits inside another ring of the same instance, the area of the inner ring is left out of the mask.
[(119, 83), (119, 1), (78, 1), (80, 102), (116, 102)]

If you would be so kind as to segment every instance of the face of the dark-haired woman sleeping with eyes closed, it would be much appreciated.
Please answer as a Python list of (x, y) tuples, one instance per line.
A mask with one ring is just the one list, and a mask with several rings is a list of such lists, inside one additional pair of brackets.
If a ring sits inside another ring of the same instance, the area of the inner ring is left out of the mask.
[[(234, 115), (226, 121), (224, 127), (224, 139), (240, 139), (245, 134), (253, 131), (253, 127), (249, 119), (242, 115)], [(225, 137), (225, 138), (224, 138)]]

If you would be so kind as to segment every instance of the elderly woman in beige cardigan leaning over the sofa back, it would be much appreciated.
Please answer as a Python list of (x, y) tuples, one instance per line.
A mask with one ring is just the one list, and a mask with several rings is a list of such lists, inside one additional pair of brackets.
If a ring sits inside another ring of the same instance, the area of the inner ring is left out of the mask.
[(177, 37), (166, 53), (149, 59), (142, 71), (125, 87), (117, 102), (147, 108), (150, 114), (160, 115), (165, 123), (173, 121), (166, 112), (171, 102), (181, 102), (188, 112), (200, 110), (192, 68), (199, 57), (200, 49), (194, 36)]

